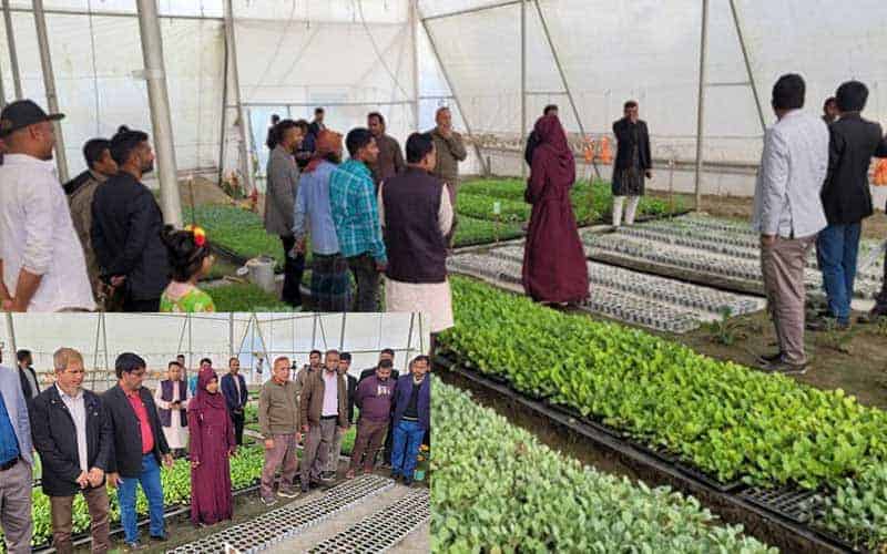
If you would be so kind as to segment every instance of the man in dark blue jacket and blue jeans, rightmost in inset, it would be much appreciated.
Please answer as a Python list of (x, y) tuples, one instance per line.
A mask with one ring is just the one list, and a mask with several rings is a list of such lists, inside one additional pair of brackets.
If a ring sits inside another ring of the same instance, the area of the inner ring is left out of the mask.
[(430, 361), (427, 356), (417, 356), (410, 362), (410, 375), (400, 377), (395, 389), (391, 478), (397, 481), (402, 476), (407, 486), (412, 484), (422, 438), (431, 429)]

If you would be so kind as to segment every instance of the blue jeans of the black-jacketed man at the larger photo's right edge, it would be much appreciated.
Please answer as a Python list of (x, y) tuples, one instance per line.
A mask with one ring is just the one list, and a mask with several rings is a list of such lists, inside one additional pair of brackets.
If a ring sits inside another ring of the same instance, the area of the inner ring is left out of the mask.
[(829, 225), (816, 237), (816, 258), (823, 273), (828, 311), (840, 324), (850, 320), (860, 230), (859, 223)]

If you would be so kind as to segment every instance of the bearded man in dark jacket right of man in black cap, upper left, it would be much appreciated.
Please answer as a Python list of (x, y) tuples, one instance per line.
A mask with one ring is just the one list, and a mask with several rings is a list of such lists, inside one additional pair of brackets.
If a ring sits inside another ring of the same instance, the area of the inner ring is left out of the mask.
[(116, 175), (102, 183), (92, 203), (92, 247), (102, 278), (122, 290), (123, 311), (159, 311), (170, 281), (161, 240), (163, 214), (142, 176), (154, 170), (147, 134), (121, 126), (111, 138)]

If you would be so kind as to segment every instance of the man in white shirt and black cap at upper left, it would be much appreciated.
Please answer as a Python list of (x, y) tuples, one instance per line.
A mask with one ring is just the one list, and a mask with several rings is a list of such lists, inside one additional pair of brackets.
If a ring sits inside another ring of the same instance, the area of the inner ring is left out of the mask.
[(30, 100), (0, 114), (0, 309), (93, 310), (83, 247), (71, 222), (52, 148), (53, 121)]

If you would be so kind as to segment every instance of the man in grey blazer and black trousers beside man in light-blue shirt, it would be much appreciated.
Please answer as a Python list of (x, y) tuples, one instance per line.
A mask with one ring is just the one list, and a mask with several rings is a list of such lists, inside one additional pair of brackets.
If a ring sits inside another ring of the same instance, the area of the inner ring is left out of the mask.
[(293, 235), (293, 214), (298, 187), (298, 166), (294, 157), (304, 136), (302, 129), (293, 120), (284, 120), (274, 126), (268, 138), (268, 146), (274, 146), (268, 156), (267, 193), (265, 194), (265, 230), (268, 235), (277, 235), (284, 247), (284, 288), (283, 301), (293, 306), (302, 306), (299, 283), (305, 269), (305, 255), (293, 247), (296, 238)]

